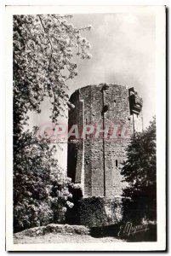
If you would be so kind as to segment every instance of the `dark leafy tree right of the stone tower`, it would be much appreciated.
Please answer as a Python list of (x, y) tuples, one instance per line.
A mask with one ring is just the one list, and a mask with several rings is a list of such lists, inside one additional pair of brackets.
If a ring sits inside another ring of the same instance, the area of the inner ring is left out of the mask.
[[(123, 195), (128, 218), (156, 218), (156, 119), (143, 132), (135, 133), (127, 148), (122, 174), (128, 187)], [(126, 218), (126, 217), (125, 217)]]

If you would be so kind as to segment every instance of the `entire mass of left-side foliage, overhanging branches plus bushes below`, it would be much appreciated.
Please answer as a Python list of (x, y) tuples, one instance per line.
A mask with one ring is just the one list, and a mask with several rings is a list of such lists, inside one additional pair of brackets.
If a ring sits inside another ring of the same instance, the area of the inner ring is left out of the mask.
[(53, 123), (67, 108), (66, 81), (77, 75), (73, 57), (90, 58), (90, 45), (71, 15), (14, 15), (14, 231), (64, 221), (74, 187), (55, 159), (55, 147), (26, 131), (28, 111), (51, 102)]

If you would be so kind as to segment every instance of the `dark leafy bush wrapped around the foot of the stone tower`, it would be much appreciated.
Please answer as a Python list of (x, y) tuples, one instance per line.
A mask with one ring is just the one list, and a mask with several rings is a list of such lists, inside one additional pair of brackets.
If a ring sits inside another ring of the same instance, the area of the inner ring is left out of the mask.
[(68, 211), (67, 221), (70, 224), (83, 224), (88, 227), (117, 224), (123, 218), (122, 201), (90, 197), (75, 202)]

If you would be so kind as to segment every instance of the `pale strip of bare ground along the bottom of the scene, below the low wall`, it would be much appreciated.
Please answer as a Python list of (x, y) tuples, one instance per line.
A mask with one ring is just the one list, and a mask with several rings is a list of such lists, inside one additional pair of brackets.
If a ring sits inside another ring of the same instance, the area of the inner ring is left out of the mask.
[(73, 242), (73, 243), (83, 243), (83, 242), (114, 242), (114, 241), (123, 241), (121, 239), (117, 239), (115, 237), (100, 237), (95, 238), (93, 236), (88, 235), (62, 235), (62, 234), (46, 234), (44, 236), (20, 236), (14, 235), (14, 243), (15, 244), (33, 244), (33, 243), (65, 243), (65, 242)]

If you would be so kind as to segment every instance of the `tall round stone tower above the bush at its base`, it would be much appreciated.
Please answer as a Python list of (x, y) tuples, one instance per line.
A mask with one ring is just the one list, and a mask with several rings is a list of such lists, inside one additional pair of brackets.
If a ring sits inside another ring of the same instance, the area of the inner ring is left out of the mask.
[(76, 90), (70, 102), (69, 130), (79, 138), (68, 140), (68, 177), (82, 184), (84, 197), (122, 195), (120, 171), (130, 137), (142, 131), (142, 99), (133, 87), (99, 84)]

